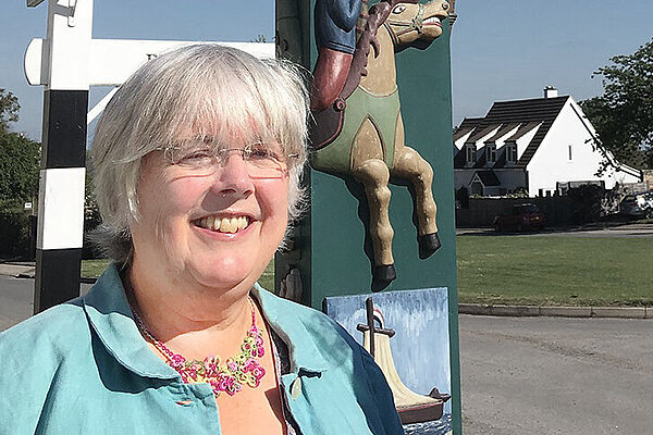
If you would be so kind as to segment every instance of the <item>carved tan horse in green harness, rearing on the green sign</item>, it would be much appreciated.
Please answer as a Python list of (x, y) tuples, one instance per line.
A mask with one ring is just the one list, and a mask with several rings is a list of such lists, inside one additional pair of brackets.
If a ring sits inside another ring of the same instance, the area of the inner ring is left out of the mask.
[[(407, 179), (415, 187), (419, 257), (426, 259), (440, 248), (431, 190), (433, 170), (404, 142), (395, 52), (427, 48), (442, 35), (448, 9), (444, 0), (426, 4), (385, 0), (371, 7), (369, 13), (364, 9), (344, 87), (331, 98), (332, 103), (312, 104), (326, 108), (313, 112), (311, 165), (318, 171), (352, 176), (364, 186), (370, 210), (373, 277), (382, 285), (396, 277), (394, 231), (389, 219), (391, 176)], [(321, 78), (316, 82), (324, 83)]]

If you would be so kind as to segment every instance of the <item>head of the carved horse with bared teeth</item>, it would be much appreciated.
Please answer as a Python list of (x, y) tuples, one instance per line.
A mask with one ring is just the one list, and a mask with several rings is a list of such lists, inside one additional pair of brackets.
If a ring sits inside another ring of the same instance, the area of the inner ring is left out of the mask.
[(442, 35), (442, 23), (448, 16), (449, 3), (433, 0), (418, 3), (418, 0), (397, 2), (385, 24), (390, 27), (395, 51), (409, 46), (426, 48)]

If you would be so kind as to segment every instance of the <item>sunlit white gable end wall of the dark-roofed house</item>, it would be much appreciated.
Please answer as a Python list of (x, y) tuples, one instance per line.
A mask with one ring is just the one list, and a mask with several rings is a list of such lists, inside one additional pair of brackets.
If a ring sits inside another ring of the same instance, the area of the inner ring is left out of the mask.
[[(624, 172), (596, 175), (603, 156), (592, 148), (593, 128), (583, 116), (580, 107), (569, 98), (528, 165), (531, 196), (538, 195), (540, 189), (555, 191), (557, 182), (602, 179), (609, 189), (616, 182), (637, 181)], [(569, 146), (572, 147), (571, 160), (568, 158)]]

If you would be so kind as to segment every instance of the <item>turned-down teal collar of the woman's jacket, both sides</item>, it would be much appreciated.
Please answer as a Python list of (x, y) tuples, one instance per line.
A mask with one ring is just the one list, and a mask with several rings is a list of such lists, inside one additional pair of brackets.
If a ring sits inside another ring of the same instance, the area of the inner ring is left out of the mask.
[[(312, 335), (297, 319), (300, 307), (272, 295), (258, 283), (251, 294), (270, 327), (287, 345), (293, 372), (321, 373), (329, 368)], [(115, 264), (109, 264), (83, 301), (93, 328), (119, 363), (146, 377), (181, 378), (151, 351), (140, 335)]]

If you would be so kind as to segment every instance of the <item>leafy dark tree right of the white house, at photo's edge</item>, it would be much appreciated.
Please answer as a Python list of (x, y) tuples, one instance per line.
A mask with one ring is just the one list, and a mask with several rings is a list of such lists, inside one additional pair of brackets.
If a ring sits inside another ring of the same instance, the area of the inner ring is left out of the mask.
[(580, 105), (618, 162), (653, 167), (653, 39), (611, 62), (592, 76), (603, 77), (603, 96)]

